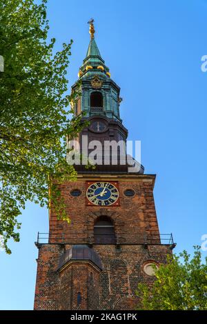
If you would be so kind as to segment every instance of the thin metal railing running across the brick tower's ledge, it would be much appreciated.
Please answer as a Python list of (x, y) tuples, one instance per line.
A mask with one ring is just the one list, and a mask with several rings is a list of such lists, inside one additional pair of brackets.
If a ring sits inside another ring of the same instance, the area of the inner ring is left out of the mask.
[(40, 244), (87, 244), (87, 245), (170, 245), (174, 248), (176, 243), (171, 234), (98, 234), (93, 236), (84, 236), (79, 234), (55, 234), (39, 233), (37, 235), (37, 245)]

